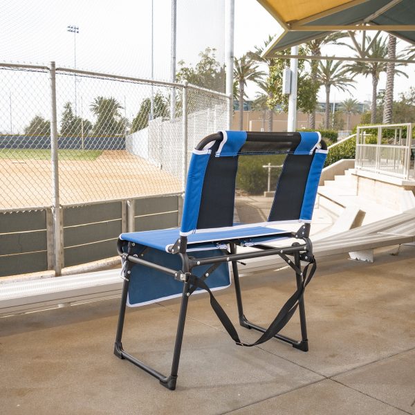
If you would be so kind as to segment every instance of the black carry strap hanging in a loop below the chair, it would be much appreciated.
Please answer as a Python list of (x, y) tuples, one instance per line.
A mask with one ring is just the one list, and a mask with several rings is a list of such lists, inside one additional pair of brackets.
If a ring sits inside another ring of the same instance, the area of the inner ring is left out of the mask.
[[(310, 273), (307, 275), (308, 266), (310, 266), (311, 264), (313, 264), (313, 266), (311, 267)], [(208, 291), (210, 295), (210, 305), (212, 306), (213, 311), (216, 313), (219, 320), (221, 320), (223, 327), (225, 327), (225, 330), (228, 331), (230, 337), (234, 340), (234, 342), (239, 346), (252, 347), (257, 346), (257, 344), (264, 343), (267, 340), (273, 338), (279, 331), (283, 329), (283, 327), (288, 323), (288, 321), (290, 321), (291, 317), (293, 317), (293, 314), (295, 313), (295, 310), (297, 310), (299, 299), (301, 299), (306, 286), (311, 281), (311, 278), (313, 278), (316, 268), (317, 264), (315, 262), (315, 259), (313, 259), (313, 261), (306, 265), (302, 274), (302, 282), (301, 284), (299, 284), (297, 291), (295, 291), (295, 293), (291, 295), (290, 298), (288, 298), (287, 302), (284, 304), (284, 306), (282, 306), (281, 310), (277, 314), (277, 317), (275, 317), (274, 321), (270, 324), (268, 329), (266, 329), (266, 331), (255, 343), (244, 343), (239, 339), (237, 330), (234, 328), (234, 325), (230, 321), (230, 318), (225, 313), (225, 311), (223, 311), (223, 308), (221, 307), (219, 302), (216, 301), (216, 298), (213, 296), (212, 291), (210, 291), (210, 288), (206, 285), (203, 279), (191, 274), (189, 277), (189, 282), (190, 284), (192, 284), (192, 286), (196, 286), (198, 288), (202, 288), (203, 290)]]

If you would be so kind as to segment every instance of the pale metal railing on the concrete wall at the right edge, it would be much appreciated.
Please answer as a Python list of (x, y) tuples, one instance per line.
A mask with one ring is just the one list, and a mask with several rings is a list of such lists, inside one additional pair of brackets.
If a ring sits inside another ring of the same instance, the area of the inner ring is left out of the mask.
[(365, 125), (356, 133), (356, 169), (415, 180), (412, 165), (414, 124)]

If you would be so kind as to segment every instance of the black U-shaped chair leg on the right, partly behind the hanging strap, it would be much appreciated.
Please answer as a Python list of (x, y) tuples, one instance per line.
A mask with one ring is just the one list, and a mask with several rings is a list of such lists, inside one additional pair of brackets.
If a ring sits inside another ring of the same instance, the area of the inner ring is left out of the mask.
[[(230, 244), (230, 253), (236, 253), (236, 246), (234, 244)], [(301, 261), (299, 259), (299, 252), (295, 252), (295, 265), (301, 269)], [(254, 329), (264, 333), (266, 329), (264, 327), (258, 326), (250, 322), (245, 315), (243, 314), (243, 304), (242, 304), (242, 295), (241, 295), (241, 285), (239, 284), (239, 272), (238, 272), (238, 264), (236, 261), (232, 261), (232, 272), (234, 275), (234, 285), (235, 285), (235, 293), (237, 296), (237, 305), (238, 305), (238, 315), (239, 315), (239, 324), (245, 327), (246, 329)], [(299, 274), (295, 274), (297, 280), (297, 288), (299, 284), (302, 282), (302, 276)], [(302, 340), (294, 340), (292, 338), (287, 337), (286, 335), (276, 334), (274, 337), (278, 340), (282, 340), (283, 342), (291, 344), (295, 349), (299, 349), (301, 351), (308, 351), (308, 340), (307, 340), (307, 328), (306, 328), (306, 309), (304, 306), (304, 296), (301, 297), (299, 300), (299, 322), (301, 326), (301, 334)]]

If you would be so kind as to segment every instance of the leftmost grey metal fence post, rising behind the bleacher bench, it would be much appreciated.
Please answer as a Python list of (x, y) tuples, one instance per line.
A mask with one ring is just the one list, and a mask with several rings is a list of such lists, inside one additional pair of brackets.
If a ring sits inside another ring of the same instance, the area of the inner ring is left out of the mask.
[(59, 204), (59, 169), (57, 157), (56, 66), (50, 62), (50, 161), (52, 167), (53, 250), (55, 275), (62, 273), (61, 212)]

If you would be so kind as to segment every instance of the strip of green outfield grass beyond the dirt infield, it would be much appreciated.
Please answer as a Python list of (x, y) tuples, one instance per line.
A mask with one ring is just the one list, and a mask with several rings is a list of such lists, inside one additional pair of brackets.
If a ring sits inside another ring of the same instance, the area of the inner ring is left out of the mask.
[[(102, 150), (59, 150), (59, 160), (96, 160)], [(1, 159), (11, 160), (50, 160), (50, 150), (0, 149)]]

